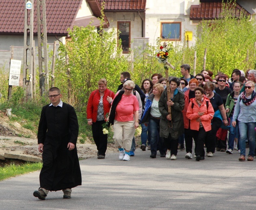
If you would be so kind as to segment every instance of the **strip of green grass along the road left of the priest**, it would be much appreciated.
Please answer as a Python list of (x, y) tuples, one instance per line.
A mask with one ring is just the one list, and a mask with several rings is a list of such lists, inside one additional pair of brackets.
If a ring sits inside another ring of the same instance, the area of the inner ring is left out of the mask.
[(10, 165), (0, 167), (0, 181), (13, 176), (41, 170), (42, 166), (42, 163), (26, 162), (21, 165), (15, 165), (14, 163), (11, 163)]

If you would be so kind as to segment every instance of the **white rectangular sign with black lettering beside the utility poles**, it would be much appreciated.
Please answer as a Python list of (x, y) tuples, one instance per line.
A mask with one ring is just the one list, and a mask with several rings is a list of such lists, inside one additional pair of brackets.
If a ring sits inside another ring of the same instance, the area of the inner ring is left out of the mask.
[(9, 85), (19, 86), (21, 65), (22, 61), (11, 59)]

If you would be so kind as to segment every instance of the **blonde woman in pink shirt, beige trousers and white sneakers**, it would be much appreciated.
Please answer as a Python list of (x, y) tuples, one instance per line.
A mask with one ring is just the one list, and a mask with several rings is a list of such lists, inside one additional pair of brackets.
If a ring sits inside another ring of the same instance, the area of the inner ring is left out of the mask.
[(130, 160), (132, 139), (135, 129), (139, 127), (139, 103), (133, 95), (134, 82), (127, 80), (123, 87), (125, 90), (118, 92), (112, 101), (109, 120), (114, 124), (113, 139), (114, 146), (119, 150), (119, 160)]

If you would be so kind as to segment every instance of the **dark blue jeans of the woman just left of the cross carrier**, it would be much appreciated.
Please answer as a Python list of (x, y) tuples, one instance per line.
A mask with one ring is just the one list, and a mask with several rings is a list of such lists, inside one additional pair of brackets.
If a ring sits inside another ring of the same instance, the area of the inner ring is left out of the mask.
[(150, 139), (150, 147), (151, 147), (151, 155), (156, 155), (157, 154), (157, 144), (159, 142), (159, 152), (160, 154), (165, 154), (165, 146), (163, 139), (159, 136), (159, 123), (160, 120), (158, 119), (149, 119), (149, 128), (148, 130), (151, 131), (151, 139)]

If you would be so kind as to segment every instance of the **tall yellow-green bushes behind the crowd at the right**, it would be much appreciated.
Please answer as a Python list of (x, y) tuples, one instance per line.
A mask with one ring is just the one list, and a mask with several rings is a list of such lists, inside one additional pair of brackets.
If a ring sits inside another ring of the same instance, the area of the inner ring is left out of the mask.
[[(197, 52), (198, 71), (203, 69), (204, 49), (207, 48), (206, 69), (231, 75), (232, 70), (254, 69), (256, 42), (255, 19), (241, 16), (233, 18), (233, 6), (224, 9), (220, 17), (214, 21), (202, 21), (198, 25), (196, 45), (191, 48)], [(190, 61), (192, 63), (192, 61)]]

